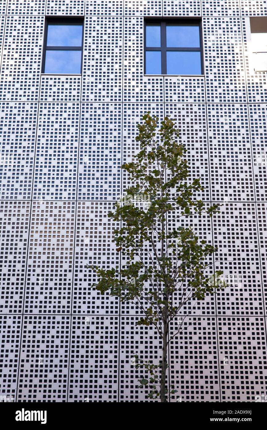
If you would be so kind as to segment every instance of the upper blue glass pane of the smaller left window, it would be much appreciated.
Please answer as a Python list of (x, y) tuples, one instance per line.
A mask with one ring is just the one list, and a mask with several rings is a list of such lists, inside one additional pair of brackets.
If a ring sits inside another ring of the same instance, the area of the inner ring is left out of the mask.
[(82, 25), (48, 24), (47, 46), (81, 46)]

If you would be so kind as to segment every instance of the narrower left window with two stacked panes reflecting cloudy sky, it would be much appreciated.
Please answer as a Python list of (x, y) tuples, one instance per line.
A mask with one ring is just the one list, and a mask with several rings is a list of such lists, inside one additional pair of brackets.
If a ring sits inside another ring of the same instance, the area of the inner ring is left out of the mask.
[(45, 27), (43, 73), (80, 74), (83, 21), (48, 18)]

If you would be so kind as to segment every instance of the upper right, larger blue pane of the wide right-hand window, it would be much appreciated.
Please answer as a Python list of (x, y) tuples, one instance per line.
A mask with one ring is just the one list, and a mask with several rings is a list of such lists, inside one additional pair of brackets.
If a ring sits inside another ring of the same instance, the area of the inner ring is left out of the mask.
[(199, 48), (199, 26), (166, 25), (166, 39), (170, 48)]

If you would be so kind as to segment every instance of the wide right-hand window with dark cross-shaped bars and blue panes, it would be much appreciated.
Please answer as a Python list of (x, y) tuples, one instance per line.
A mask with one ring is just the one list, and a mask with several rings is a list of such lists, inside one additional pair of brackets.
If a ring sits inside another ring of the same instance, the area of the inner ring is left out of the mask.
[(202, 74), (199, 20), (146, 20), (144, 40), (145, 74)]

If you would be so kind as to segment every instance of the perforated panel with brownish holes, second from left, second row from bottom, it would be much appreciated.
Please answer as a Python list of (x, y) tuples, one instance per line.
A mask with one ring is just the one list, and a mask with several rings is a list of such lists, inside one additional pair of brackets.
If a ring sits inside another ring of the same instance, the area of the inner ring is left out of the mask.
[(71, 313), (75, 203), (33, 202), (25, 313)]

